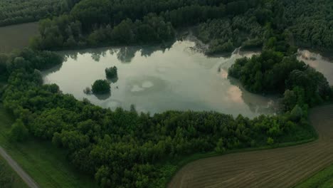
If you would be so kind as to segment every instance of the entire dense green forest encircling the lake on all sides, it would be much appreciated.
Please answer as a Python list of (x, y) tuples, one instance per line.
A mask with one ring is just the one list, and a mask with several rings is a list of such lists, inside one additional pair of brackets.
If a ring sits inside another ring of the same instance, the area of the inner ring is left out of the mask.
[[(1, 99), (17, 118), (9, 134), (18, 142), (30, 134), (62, 147), (100, 187), (164, 187), (177, 169), (173, 161), (198, 152), (313, 138), (307, 110), (331, 99), (332, 89), (321, 73), (297, 61), (295, 46), (332, 48), (332, 3), (320, 1), (324, 9), (312, 0), (82, 0), (70, 11), (49, 11), (65, 14), (39, 22), (33, 49), (0, 56), (8, 83)], [(297, 2), (302, 9), (296, 10)], [(63, 59), (38, 50), (166, 43), (181, 28), (207, 43), (208, 54), (262, 48), (258, 56), (236, 61), (229, 73), (252, 92), (284, 94), (284, 113), (250, 120), (215, 112), (150, 115), (134, 106), (112, 111), (65, 95), (58, 85), (43, 85), (40, 71)]]

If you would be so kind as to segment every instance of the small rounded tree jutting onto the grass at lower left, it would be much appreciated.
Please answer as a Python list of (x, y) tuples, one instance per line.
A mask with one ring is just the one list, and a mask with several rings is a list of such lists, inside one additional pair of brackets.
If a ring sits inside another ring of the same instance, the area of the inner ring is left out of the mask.
[(22, 142), (28, 138), (28, 129), (24, 126), (22, 120), (18, 119), (11, 125), (9, 137), (14, 142)]

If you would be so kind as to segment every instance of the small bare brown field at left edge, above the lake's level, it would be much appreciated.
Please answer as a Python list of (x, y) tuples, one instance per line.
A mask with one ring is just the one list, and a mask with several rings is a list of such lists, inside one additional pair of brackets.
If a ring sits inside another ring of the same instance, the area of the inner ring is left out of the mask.
[(31, 36), (37, 34), (37, 22), (0, 27), (0, 53), (28, 46)]

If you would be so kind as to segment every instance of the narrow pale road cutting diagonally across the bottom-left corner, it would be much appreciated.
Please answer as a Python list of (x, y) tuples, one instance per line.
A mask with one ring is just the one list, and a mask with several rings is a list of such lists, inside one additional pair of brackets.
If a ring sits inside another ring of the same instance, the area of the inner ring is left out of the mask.
[(0, 155), (4, 157), (11, 168), (13, 168), (14, 171), (23, 179), (23, 181), (26, 182), (28, 187), (38, 188), (36, 182), (34, 182), (33, 179), (28, 174), (26, 174), (26, 172), (24, 172), (21, 167), (18, 166), (18, 164), (7, 154), (7, 152), (2, 147), (0, 147)]

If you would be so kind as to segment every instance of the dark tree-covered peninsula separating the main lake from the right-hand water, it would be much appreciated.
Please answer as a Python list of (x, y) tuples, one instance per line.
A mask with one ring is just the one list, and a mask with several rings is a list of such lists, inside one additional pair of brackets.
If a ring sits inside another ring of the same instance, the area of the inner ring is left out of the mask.
[(307, 110), (332, 98), (332, 89), (322, 73), (281, 52), (263, 51), (260, 56), (238, 59), (229, 75), (255, 93), (284, 93), (285, 111), (295, 105)]

